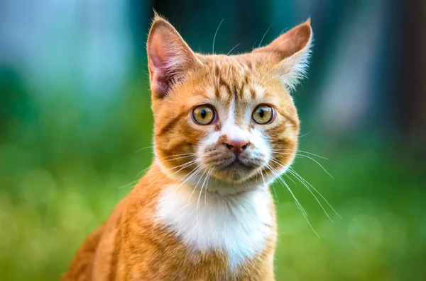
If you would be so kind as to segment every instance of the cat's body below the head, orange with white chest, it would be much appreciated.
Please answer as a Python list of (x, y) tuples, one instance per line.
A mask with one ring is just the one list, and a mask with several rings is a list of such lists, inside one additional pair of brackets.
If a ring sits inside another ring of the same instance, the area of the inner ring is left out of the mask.
[[(190, 193), (176, 195), (170, 189), (174, 184), (170, 180), (165, 180), (165, 188), (146, 188), (158, 179), (160, 175), (155, 173), (158, 171), (159, 168), (153, 166), (116, 207), (109, 220), (95, 232), (100, 231), (101, 234), (95, 234), (96, 239), (86, 241), (83, 248), (88, 250), (77, 254), (72, 264), (76, 275), (72, 276), (70, 271), (69, 280), (273, 280), (275, 218), (268, 190), (253, 191), (253, 195), (261, 196), (246, 198), (249, 199), (246, 205), (236, 205), (235, 202), (228, 205), (222, 201), (224, 199), (210, 202), (212, 206), (208, 209), (222, 208), (222, 214), (212, 219), (204, 213), (207, 211), (204, 208), (198, 214), (195, 209), (189, 213), (191, 207), (197, 205), (198, 194), (193, 195), (188, 203)], [(238, 195), (234, 200), (237, 198)], [(171, 228), (163, 225), (158, 218), (158, 205), (162, 199), (166, 202), (160, 207), (160, 212), (165, 221), (179, 216), (184, 219), (186, 215), (187, 220), (168, 224)], [(258, 206), (256, 203), (261, 199), (266, 200)], [(176, 213), (176, 204), (186, 206), (188, 210)], [(253, 210), (248, 215), (253, 221), (249, 221), (241, 212), (234, 216), (232, 207), (261, 210)], [(208, 230), (202, 231), (197, 224), (206, 218), (210, 219)], [(247, 224), (249, 229), (244, 229)], [(186, 247), (173, 229), (191, 231), (185, 240), (192, 246)], [(253, 245), (253, 242), (257, 244)], [(91, 260), (84, 260), (78, 255), (90, 255)]]

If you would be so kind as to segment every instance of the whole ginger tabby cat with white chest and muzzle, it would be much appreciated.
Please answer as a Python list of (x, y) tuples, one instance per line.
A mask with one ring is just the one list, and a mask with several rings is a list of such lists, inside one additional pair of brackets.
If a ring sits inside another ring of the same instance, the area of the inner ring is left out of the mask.
[(311, 42), (308, 20), (253, 52), (201, 55), (155, 16), (147, 42), (155, 159), (63, 280), (274, 280), (268, 183), (295, 158), (289, 91)]

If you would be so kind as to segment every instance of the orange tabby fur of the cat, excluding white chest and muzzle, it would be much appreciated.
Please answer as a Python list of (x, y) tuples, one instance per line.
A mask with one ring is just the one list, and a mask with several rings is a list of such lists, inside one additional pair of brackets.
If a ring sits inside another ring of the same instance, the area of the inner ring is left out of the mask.
[[(273, 203), (269, 208), (271, 235), (262, 251), (236, 268), (230, 267), (229, 256), (221, 248), (191, 249), (158, 219), (157, 207), (166, 187), (194, 189), (190, 182), (182, 183), (182, 177), (195, 167), (185, 166), (192, 156), (170, 156), (195, 153), (202, 139), (219, 132), (224, 125), (220, 114), (214, 125), (195, 127), (192, 123), (192, 109), (206, 100), (218, 101), (218, 108), (235, 103), (235, 122), (240, 126), (246, 125), (244, 110), (239, 108), (255, 100), (273, 105), (275, 120), (259, 130), (268, 136), (275, 151), (288, 149), (288, 154), (272, 153), (272, 169), (253, 172), (246, 180), (239, 180), (231, 171), (212, 171), (212, 181), (219, 191), (204, 191), (205, 200), (215, 192), (226, 196), (244, 193), (243, 181), (260, 183), (266, 178), (270, 182), (277, 176), (274, 171), (282, 171), (283, 165), (291, 164), (297, 149), (299, 120), (289, 88), (303, 74), (302, 69), (296, 68), (304, 67), (301, 64), (305, 64), (311, 39), (307, 21), (251, 53), (200, 55), (190, 50), (170, 23), (155, 16), (147, 45), (155, 117), (155, 161), (109, 219), (84, 241), (63, 280), (274, 280)], [(159, 60), (162, 56), (166, 57), (165, 64)], [(158, 65), (164, 68), (158, 70)], [(247, 125), (246, 130), (254, 126)], [(221, 142), (227, 141), (226, 136), (221, 138)], [(220, 160), (221, 156), (218, 157)], [(177, 166), (180, 168), (174, 168)], [(227, 186), (223, 192), (221, 182)]]

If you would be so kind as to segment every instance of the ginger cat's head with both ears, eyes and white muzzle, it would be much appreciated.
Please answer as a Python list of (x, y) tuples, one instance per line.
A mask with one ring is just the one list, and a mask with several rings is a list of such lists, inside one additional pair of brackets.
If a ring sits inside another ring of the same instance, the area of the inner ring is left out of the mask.
[(292, 163), (310, 21), (242, 55), (193, 52), (155, 16), (148, 36), (155, 159), (182, 184), (223, 193), (269, 183)]

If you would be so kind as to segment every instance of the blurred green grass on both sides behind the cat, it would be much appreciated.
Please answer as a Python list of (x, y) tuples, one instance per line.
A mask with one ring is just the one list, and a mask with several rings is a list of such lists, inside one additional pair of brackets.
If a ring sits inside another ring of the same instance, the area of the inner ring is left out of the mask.
[[(84, 237), (129, 193), (152, 158), (149, 148), (135, 152), (151, 145), (146, 88), (129, 86), (95, 118), (63, 95), (29, 101), (39, 108), (29, 120), (8, 120), (0, 144), (1, 280), (57, 279)], [(275, 183), (277, 280), (422, 280), (425, 166), (389, 142), (331, 142), (321, 134), (301, 142), (300, 149), (329, 158), (318, 161), (334, 179), (310, 159), (297, 158), (293, 168), (342, 219), (323, 202), (330, 222), (310, 192), (284, 176), (318, 238)]]

